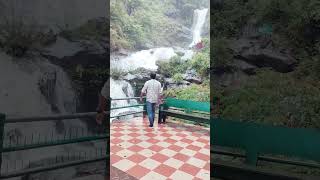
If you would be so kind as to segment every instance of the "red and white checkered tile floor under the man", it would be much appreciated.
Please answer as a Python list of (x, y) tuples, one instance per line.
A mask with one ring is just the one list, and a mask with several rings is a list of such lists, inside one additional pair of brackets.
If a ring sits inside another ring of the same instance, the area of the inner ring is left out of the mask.
[(111, 165), (137, 179), (210, 179), (208, 128), (140, 117), (113, 122), (110, 144)]

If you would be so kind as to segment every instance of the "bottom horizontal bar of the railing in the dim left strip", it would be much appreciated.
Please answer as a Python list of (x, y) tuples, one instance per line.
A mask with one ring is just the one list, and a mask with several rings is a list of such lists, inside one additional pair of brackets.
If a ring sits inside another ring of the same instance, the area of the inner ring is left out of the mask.
[(108, 158), (109, 158), (109, 155), (107, 155), (105, 157), (90, 159), (90, 160), (79, 160), (79, 161), (75, 161), (75, 162), (71, 162), (71, 163), (58, 164), (58, 165), (54, 165), (51, 167), (34, 168), (34, 169), (26, 170), (23, 172), (13, 172), (13, 173), (1, 175), (0, 179), (7, 179), (7, 178), (19, 177), (19, 176), (23, 176), (23, 175), (27, 175), (27, 174), (52, 171), (52, 170), (56, 170), (56, 169), (62, 169), (62, 168), (67, 168), (67, 167), (71, 167), (71, 166), (78, 166), (78, 165), (82, 165), (82, 164), (89, 164), (89, 163), (94, 163), (94, 162), (98, 162), (98, 161), (106, 161), (106, 160), (108, 160)]

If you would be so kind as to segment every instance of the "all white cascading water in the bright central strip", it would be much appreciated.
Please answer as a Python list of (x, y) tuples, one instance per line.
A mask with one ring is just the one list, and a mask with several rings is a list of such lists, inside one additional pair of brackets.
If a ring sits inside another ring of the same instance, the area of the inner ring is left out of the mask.
[[(204, 26), (208, 9), (197, 9), (194, 11), (193, 26), (192, 26), (192, 42), (189, 48), (193, 47), (201, 41), (201, 30)], [(181, 57), (182, 60), (191, 59), (194, 52), (191, 49), (179, 48), (184, 56)], [(111, 69), (116, 69), (118, 71), (130, 71), (138, 68), (145, 68), (148, 70), (156, 71), (158, 66), (157, 61), (165, 61), (176, 56), (175, 50), (172, 47), (160, 47), (148, 50), (142, 50), (132, 53), (128, 57), (119, 60), (111, 61)], [(129, 82), (124, 80), (114, 80), (110, 81), (110, 96), (111, 98), (126, 98), (133, 97), (133, 88)], [(136, 104), (136, 100), (131, 101), (113, 101), (111, 107), (123, 107), (129, 106), (131, 104)], [(126, 109), (115, 109), (111, 111), (111, 117), (126, 113), (128, 111), (137, 111), (139, 108), (126, 108)], [(113, 119), (110, 119), (112, 121)]]

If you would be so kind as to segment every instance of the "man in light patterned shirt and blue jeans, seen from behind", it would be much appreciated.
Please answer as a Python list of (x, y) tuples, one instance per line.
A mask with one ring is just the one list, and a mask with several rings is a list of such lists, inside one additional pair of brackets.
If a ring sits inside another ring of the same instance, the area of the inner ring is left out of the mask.
[(142, 101), (142, 96), (146, 94), (147, 113), (150, 122), (149, 127), (153, 127), (155, 106), (159, 103), (161, 94), (161, 83), (156, 80), (155, 73), (151, 73), (150, 78), (151, 80), (147, 81), (141, 90), (140, 101)]

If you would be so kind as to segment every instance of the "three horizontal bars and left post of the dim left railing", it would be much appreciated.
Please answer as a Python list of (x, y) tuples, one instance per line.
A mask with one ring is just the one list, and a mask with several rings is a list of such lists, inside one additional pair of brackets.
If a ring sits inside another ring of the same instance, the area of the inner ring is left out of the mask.
[[(109, 113), (109, 112), (105, 112)], [(35, 148), (43, 148), (43, 147), (50, 147), (50, 146), (59, 146), (59, 145), (66, 145), (66, 144), (74, 144), (74, 143), (81, 143), (81, 142), (87, 142), (87, 141), (98, 141), (98, 140), (106, 140), (106, 143), (109, 144), (109, 135), (107, 134), (95, 134), (90, 136), (83, 136), (83, 137), (76, 137), (71, 138), (71, 136), (68, 138), (64, 138), (63, 140), (55, 140), (50, 142), (38, 142), (30, 144), (23, 144), (23, 145), (15, 145), (15, 146), (4, 146), (4, 126), (6, 124), (12, 124), (12, 123), (23, 123), (23, 122), (39, 122), (39, 121), (55, 121), (55, 120), (70, 120), (75, 118), (85, 118), (85, 117), (93, 117), (97, 113), (96, 112), (86, 112), (86, 113), (75, 113), (75, 114), (62, 114), (62, 115), (50, 115), (50, 116), (35, 116), (35, 117), (11, 117), (7, 118), (4, 114), (0, 114), (0, 169), (2, 167), (2, 153), (8, 153), (8, 152), (16, 152), (16, 151), (22, 151), (22, 150), (28, 150), (28, 149), (35, 149)], [(106, 147), (106, 152), (108, 152), (108, 149), (110, 148), (108, 145)], [(101, 151), (102, 152), (102, 151)], [(109, 157), (108, 154), (101, 153), (99, 156), (92, 157), (94, 159), (86, 159), (81, 161), (68, 161), (64, 164), (54, 164), (50, 167), (37, 167), (33, 169), (21, 169), (15, 172), (6, 172), (2, 173), (0, 171), (0, 179), (6, 179), (6, 178), (12, 178), (12, 177), (19, 177), (23, 175), (28, 175), (32, 173), (38, 173), (38, 172), (44, 172), (44, 171), (51, 171), (55, 169), (61, 169), (65, 167), (71, 167), (76, 166), (80, 164), (85, 163), (92, 163), (92, 162), (98, 162), (98, 161), (105, 161)], [(23, 162), (23, 160), (22, 160)], [(30, 163), (30, 162), (29, 162)], [(56, 162), (57, 163), (57, 162)], [(107, 164), (107, 163), (106, 163)], [(29, 164), (30, 165), (30, 164)], [(30, 166), (29, 166), (30, 168)]]

